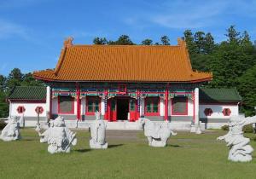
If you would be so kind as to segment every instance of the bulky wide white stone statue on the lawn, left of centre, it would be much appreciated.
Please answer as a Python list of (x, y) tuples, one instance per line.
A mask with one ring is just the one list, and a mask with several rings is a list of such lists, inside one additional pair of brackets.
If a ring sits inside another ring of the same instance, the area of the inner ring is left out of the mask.
[(64, 118), (61, 116), (55, 120), (50, 120), (49, 129), (45, 130), (44, 133), (40, 133), (39, 130), (38, 134), (40, 142), (49, 144), (49, 153), (69, 153), (71, 145), (77, 144), (76, 134), (66, 127)]

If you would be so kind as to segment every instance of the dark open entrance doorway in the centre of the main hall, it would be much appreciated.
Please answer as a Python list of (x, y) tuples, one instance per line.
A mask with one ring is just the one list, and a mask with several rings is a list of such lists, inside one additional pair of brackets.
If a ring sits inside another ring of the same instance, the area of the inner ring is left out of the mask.
[(129, 98), (117, 98), (117, 118), (127, 120), (129, 113)]

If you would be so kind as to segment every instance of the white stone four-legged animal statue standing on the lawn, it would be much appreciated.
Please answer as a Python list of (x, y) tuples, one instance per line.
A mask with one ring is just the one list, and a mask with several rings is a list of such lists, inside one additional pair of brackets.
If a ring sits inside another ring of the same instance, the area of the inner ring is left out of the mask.
[(144, 135), (148, 137), (148, 145), (152, 147), (166, 147), (168, 138), (177, 135), (169, 128), (168, 123), (156, 124), (148, 118), (139, 118), (138, 124), (139, 128), (144, 130)]

